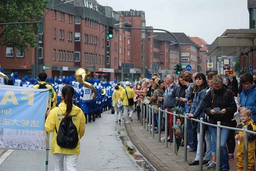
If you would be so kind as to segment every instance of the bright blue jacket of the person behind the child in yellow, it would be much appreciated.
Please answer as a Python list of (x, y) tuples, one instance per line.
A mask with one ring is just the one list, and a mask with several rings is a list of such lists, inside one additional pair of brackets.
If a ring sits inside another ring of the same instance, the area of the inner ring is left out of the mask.
[(254, 83), (249, 89), (243, 89), (240, 94), (239, 104), (242, 105), (242, 107), (250, 109), (252, 112), (252, 119), (256, 121), (256, 86)]

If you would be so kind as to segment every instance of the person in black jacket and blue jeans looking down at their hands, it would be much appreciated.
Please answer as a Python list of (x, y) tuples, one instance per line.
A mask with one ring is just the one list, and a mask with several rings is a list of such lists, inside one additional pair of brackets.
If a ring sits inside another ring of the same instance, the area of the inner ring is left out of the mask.
[[(237, 111), (237, 105), (234, 101), (234, 96), (231, 90), (223, 86), (223, 80), (220, 75), (212, 77), (212, 84), (214, 88), (210, 90), (204, 100), (204, 112), (209, 117), (208, 123), (217, 125), (217, 121), (221, 121), (221, 125), (230, 127), (233, 114)], [(217, 144), (217, 128), (208, 126), (212, 139)], [(227, 138), (229, 129), (221, 129), (221, 169), (229, 170), (228, 151), (227, 151)], [(212, 151), (216, 154), (217, 146), (214, 146)], [(216, 168), (216, 162), (212, 161), (208, 169)]]

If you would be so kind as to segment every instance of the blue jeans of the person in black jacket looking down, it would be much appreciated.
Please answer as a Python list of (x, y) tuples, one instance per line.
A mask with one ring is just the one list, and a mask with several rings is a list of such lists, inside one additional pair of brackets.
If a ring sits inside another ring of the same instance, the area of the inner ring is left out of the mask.
[[(209, 131), (212, 136), (212, 139), (215, 142), (214, 151), (212, 153), (216, 153), (217, 149), (217, 128), (209, 126)], [(229, 170), (229, 163), (228, 163), (228, 150), (227, 150), (227, 138), (229, 135), (229, 129), (221, 129), (221, 169), (222, 170)]]

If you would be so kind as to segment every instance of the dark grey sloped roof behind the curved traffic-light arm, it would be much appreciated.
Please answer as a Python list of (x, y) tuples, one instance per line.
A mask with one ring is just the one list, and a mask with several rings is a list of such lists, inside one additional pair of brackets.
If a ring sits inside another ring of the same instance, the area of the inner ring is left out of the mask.
[[(191, 41), (185, 33), (172, 33), (172, 34), (174, 34), (177, 37), (180, 44), (191, 44), (191, 45), (197, 46), (197, 44), (194, 43), (193, 41)], [(157, 40), (168, 40), (168, 41), (172, 41), (172, 42), (177, 42), (175, 40), (175, 38), (172, 35), (170, 35), (169, 33), (154, 32), (154, 35), (157, 35), (155, 37), (155, 39), (157, 39)]]

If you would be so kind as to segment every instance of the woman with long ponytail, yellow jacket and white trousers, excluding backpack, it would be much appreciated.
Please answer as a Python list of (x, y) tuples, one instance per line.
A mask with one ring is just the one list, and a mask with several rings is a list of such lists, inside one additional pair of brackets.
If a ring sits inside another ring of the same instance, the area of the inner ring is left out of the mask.
[[(65, 157), (67, 170), (76, 170), (77, 158), (80, 154), (80, 139), (84, 135), (86, 117), (82, 110), (73, 105), (74, 88), (66, 85), (61, 91), (61, 103), (47, 113), (45, 129), (47, 132), (53, 132), (51, 141), (51, 153), (54, 158), (54, 170), (63, 170), (63, 159)], [(57, 144), (56, 138), (60, 122), (63, 118), (71, 116), (73, 124), (78, 132), (78, 144), (74, 149), (62, 148)]]

